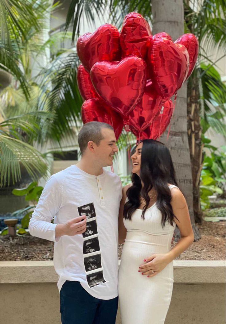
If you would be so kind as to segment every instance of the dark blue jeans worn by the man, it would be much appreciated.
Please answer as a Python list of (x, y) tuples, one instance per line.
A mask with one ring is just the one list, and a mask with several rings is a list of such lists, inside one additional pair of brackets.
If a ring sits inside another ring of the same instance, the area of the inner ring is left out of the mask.
[(115, 324), (118, 297), (91, 296), (78, 281), (66, 281), (60, 291), (62, 324)]

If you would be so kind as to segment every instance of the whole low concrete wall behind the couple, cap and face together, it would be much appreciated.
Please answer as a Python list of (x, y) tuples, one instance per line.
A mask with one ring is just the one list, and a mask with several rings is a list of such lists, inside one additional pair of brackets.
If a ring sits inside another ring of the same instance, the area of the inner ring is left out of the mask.
[[(165, 324), (224, 324), (225, 261), (186, 260), (173, 265), (174, 286)], [(60, 324), (57, 280), (53, 261), (0, 262), (0, 322)], [(116, 324), (123, 324), (120, 309)]]

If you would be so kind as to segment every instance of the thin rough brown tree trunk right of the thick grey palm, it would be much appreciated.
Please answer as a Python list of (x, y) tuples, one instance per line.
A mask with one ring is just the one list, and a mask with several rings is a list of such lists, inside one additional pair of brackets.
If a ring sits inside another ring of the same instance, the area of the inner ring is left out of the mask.
[(192, 88), (187, 87), (187, 122), (188, 122), (188, 142), (190, 147), (190, 157), (193, 179), (193, 210), (196, 223), (202, 223), (202, 211), (200, 206), (200, 175), (203, 167), (203, 147), (201, 135), (202, 128), (199, 116), (199, 92), (198, 84), (193, 81)]

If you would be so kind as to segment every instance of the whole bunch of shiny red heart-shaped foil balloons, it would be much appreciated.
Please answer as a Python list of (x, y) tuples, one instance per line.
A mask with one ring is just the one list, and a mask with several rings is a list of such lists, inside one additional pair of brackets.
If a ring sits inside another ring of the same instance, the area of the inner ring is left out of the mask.
[(137, 140), (157, 139), (171, 120), (171, 97), (195, 67), (198, 41), (193, 34), (175, 42), (165, 32), (152, 36), (148, 22), (132, 12), (121, 33), (105, 24), (80, 36), (77, 53), (83, 123), (106, 122), (117, 139), (123, 126)]

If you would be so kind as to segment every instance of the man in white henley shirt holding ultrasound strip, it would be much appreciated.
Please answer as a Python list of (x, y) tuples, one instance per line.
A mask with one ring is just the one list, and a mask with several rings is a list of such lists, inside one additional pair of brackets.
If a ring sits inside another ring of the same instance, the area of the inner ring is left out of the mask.
[[(113, 164), (118, 151), (113, 128), (89, 122), (80, 130), (78, 144), (81, 161), (47, 181), (29, 230), (55, 242), (62, 323), (114, 324), (122, 185), (116, 174), (103, 169)], [(93, 258), (98, 266), (92, 269)]]

